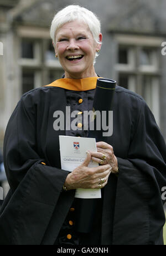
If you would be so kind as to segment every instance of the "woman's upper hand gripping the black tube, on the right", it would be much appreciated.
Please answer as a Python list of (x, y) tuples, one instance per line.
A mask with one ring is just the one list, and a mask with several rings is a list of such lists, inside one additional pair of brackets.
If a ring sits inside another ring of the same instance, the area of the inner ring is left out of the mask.
[(117, 158), (113, 153), (113, 147), (103, 141), (97, 142), (96, 146), (97, 152), (91, 152), (92, 160), (100, 165), (109, 164), (112, 167), (111, 173), (117, 173), (118, 163)]

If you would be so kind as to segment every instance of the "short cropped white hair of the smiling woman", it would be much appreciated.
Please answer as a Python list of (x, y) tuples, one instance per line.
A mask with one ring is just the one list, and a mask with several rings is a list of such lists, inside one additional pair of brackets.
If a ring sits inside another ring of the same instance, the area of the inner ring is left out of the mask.
[[(80, 21), (84, 22), (89, 26), (89, 29), (92, 33), (94, 41), (101, 45), (99, 42), (98, 37), (101, 32), (101, 23), (93, 12), (89, 11), (84, 7), (80, 7), (78, 5), (70, 5), (63, 9), (61, 9), (58, 13), (55, 14), (53, 21), (51, 22), (50, 27), (50, 36), (53, 40), (55, 46), (55, 34), (58, 28), (63, 26), (65, 23), (72, 22), (72, 21)], [(96, 53), (95, 58), (98, 56)], [(95, 62), (94, 62), (95, 63)]]

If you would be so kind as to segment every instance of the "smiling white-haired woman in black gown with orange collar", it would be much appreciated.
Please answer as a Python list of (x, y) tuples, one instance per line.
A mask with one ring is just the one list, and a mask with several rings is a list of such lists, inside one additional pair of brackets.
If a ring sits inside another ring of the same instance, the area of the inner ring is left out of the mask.
[[(163, 244), (165, 142), (141, 96), (116, 86), (113, 135), (72, 172), (61, 170), (59, 135), (87, 137), (82, 127), (55, 130), (54, 112), (92, 110), (101, 48), (100, 22), (79, 6), (51, 24), (63, 78), (25, 93), (4, 138), (11, 189), (0, 217), (1, 244)], [(90, 160), (100, 165), (89, 168)], [(102, 182), (101, 182), (102, 181)], [(101, 187), (99, 199), (76, 199), (77, 188)], [(86, 218), (85, 218), (86, 216)]]

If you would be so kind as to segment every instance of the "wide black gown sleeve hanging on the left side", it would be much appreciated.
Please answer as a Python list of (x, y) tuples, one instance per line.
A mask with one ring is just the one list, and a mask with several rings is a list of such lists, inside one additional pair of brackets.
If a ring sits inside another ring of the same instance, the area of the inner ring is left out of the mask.
[[(0, 244), (42, 244), (54, 215), (60, 219), (51, 237), (53, 244), (74, 198), (73, 191), (62, 192), (69, 172), (48, 166), (38, 154), (36, 127), (36, 106), (25, 106), (20, 100), (4, 137), (4, 165), (11, 189), (1, 208)], [(46, 239), (49, 243), (50, 238)]]

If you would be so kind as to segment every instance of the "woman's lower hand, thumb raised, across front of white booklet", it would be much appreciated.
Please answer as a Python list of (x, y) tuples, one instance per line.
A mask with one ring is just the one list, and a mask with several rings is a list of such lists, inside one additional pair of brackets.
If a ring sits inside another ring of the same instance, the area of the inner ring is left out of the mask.
[[(97, 189), (103, 188), (107, 184), (108, 177), (111, 173), (111, 166), (106, 164), (95, 168), (89, 168), (87, 166), (89, 165), (90, 160), (91, 153), (87, 151), (87, 157), (84, 163), (68, 174), (64, 183), (67, 190), (78, 188)], [(98, 184), (101, 185), (98, 186)]]

